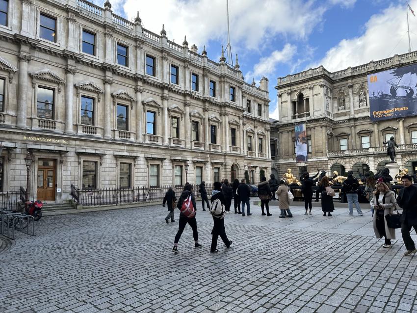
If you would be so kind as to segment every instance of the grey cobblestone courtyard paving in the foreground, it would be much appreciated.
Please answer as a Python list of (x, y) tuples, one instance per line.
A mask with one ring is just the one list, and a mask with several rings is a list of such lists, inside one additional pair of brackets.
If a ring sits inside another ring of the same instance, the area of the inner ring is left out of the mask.
[(227, 214), (233, 245), (219, 238), (214, 255), (201, 209), (204, 247), (187, 226), (178, 255), (161, 206), (45, 216), (0, 254), (0, 312), (417, 312), (417, 257), (403, 257), (399, 232), (384, 249), (366, 209), (292, 212)]

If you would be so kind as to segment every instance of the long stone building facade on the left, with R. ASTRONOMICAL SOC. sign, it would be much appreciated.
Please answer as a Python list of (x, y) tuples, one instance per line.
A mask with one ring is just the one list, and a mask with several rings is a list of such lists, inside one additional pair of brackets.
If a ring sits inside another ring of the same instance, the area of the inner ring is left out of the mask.
[[(61, 202), (70, 185), (129, 188), (270, 172), (268, 79), (247, 84), (86, 0), (5, 0), (0, 10), (1, 192)], [(250, 108), (250, 111), (248, 111)], [(188, 170), (186, 170), (186, 168)], [(61, 191), (61, 192), (59, 192)]]

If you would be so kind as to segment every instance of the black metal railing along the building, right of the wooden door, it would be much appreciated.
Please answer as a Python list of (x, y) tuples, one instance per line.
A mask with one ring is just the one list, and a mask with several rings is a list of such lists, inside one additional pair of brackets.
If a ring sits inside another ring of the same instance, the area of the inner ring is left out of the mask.
[[(138, 186), (133, 188), (101, 188), (101, 189), (79, 189), (71, 185), (71, 197), (84, 207), (114, 205), (120, 203), (139, 203), (155, 200), (162, 200), (168, 191), (169, 185), (162, 186)], [(180, 197), (183, 186), (172, 186), (177, 198)], [(193, 193), (200, 197), (200, 186), (193, 186)], [(210, 196), (213, 189), (212, 183), (206, 184), (207, 194)]]

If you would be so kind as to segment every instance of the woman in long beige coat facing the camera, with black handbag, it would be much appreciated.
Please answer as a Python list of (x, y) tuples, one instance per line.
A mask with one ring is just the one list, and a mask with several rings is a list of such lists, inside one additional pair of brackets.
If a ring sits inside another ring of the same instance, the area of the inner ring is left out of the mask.
[(370, 202), (373, 214), (373, 230), (377, 238), (385, 237), (384, 248), (391, 248), (391, 239), (395, 239), (395, 229), (389, 228), (385, 215), (392, 214), (394, 208), (397, 208), (394, 192), (390, 190), (386, 183), (378, 183), (376, 190), (373, 192), (373, 198)]

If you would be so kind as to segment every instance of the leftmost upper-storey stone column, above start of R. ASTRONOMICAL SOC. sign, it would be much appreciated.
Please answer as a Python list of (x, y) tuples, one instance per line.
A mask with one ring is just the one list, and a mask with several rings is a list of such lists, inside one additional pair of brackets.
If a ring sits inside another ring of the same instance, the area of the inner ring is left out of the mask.
[(27, 114), (27, 66), (32, 58), (27, 54), (19, 54), (19, 82), (17, 95), (17, 120), (16, 128), (26, 129), (26, 114)]

